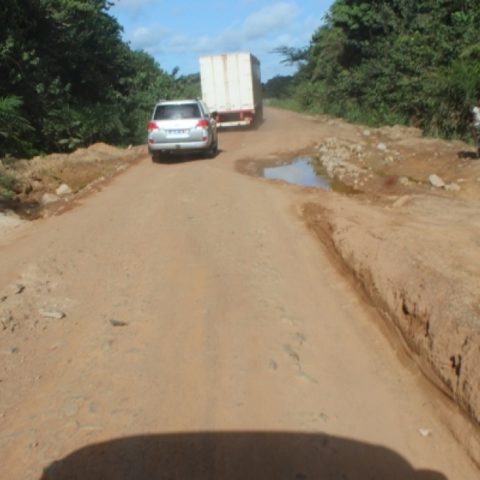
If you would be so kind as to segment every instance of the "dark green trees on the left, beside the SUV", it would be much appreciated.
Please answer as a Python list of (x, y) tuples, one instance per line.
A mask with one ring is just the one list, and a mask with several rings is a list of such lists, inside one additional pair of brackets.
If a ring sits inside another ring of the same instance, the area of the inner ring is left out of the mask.
[(108, 0), (3, 0), (0, 156), (141, 142), (159, 98), (194, 91), (133, 51)]

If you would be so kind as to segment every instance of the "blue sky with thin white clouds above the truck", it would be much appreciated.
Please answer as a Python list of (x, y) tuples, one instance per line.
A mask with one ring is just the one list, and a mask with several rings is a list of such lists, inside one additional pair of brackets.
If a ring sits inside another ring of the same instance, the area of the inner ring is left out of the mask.
[(198, 57), (249, 51), (262, 64), (262, 79), (292, 69), (270, 53), (308, 45), (333, 0), (113, 0), (110, 14), (132, 48), (150, 53), (167, 72), (198, 72)]

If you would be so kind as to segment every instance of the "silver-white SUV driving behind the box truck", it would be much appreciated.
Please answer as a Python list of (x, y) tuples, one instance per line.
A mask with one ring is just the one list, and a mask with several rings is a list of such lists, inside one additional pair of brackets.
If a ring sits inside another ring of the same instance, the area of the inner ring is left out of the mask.
[(155, 105), (148, 124), (148, 151), (154, 162), (162, 154), (218, 151), (217, 124), (201, 100), (171, 100)]

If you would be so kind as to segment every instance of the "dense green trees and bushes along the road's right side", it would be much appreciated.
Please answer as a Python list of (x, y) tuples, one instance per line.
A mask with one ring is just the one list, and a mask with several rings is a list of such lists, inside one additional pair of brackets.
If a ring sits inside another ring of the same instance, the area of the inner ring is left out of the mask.
[(288, 94), (272, 79), (266, 96), (294, 110), (466, 137), (480, 95), (478, 25), (477, 0), (337, 0), (310, 45), (277, 49), (298, 71)]

